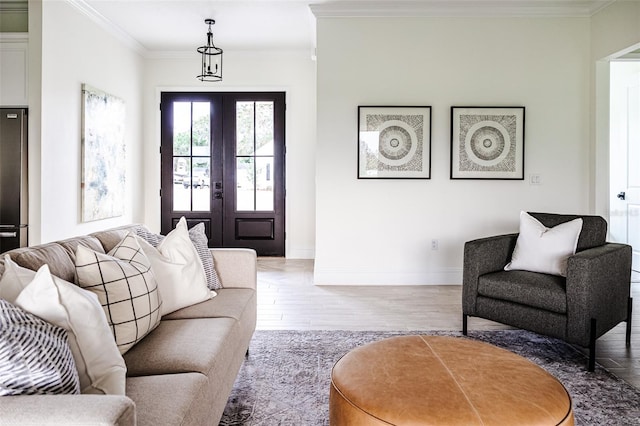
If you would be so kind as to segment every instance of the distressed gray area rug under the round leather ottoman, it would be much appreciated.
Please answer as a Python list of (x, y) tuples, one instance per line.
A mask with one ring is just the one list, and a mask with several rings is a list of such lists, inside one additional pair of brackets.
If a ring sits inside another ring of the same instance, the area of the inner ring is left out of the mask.
[[(223, 426), (328, 425), (333, 364), (349, 350), (391, 336), (458, 332), (256, 331), (220, 422)], [(557, 377), (573, 401), (577, 425), (640, 425), (640, 390), (563, 341), (521, 330), (469, 331), (528, 358)]]

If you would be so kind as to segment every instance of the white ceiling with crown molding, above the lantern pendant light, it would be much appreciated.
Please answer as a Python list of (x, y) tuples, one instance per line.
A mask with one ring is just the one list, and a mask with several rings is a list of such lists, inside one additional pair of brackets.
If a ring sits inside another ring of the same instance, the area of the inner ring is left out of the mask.
[[(43, 0), (56, 1), (56, 0)], [(229, 50), (308, 50), (316, 17), (591, 16), (613, 0), (67, 0), (145, 56)], [(25, 3), (26, 0), (0, 0)]]

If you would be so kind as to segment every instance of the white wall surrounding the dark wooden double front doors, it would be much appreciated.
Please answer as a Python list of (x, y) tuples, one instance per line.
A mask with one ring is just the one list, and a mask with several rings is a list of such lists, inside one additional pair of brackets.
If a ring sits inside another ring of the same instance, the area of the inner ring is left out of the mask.
[(144, 80), (144, 222), (160, 230), (160, 93), (162, 91), (286, 92), (286, 256), (313, 258), (315, 223), (315, 62), (309, 52), (225, 50), (223, 81), (196, 79), (193, 54), (149, 59)]

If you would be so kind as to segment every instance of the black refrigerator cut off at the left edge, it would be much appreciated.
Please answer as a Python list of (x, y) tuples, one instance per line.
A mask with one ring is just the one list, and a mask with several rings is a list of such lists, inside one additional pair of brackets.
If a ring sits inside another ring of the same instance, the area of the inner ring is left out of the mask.
[(27, 110), (0, 108), (0, 253), (27, 245)]

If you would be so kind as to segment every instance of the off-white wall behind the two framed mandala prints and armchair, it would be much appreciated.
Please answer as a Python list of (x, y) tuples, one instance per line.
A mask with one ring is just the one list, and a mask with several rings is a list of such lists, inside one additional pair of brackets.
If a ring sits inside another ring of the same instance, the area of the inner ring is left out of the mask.
[[(520, 210), (590, 213), (589, 25), (318, 19), (316, 284), (459, 284), (464, 242)], [(430, 180), (356, 178), (358, 105), (432, 106)], [(526, 180), (449, 179), (453, 105), (526, 107)]]

